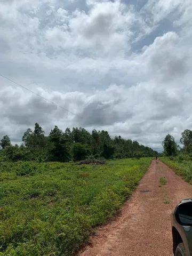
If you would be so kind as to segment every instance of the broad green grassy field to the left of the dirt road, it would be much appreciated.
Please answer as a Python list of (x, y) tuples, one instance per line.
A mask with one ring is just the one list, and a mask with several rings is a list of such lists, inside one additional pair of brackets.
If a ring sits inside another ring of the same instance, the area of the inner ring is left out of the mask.
[(0, 255), (73, 255), (121, 207), (150, 161), (0, 163)]

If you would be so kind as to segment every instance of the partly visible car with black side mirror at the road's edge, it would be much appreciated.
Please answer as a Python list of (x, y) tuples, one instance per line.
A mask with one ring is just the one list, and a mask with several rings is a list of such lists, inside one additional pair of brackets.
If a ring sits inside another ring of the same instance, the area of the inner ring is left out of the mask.
[(173, 253), (192, 256), (192, 199), (182, 200), (171, 214)]

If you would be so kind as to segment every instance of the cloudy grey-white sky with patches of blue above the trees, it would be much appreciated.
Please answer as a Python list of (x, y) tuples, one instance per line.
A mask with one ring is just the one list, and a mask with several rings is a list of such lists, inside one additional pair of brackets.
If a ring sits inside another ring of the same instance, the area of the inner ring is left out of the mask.
[(192, 129), (191, 0), (1, 0), (0, 23), (0, 74), (47, 99), (0, 77), (0, 138), (38, 122), (162, 151)]

